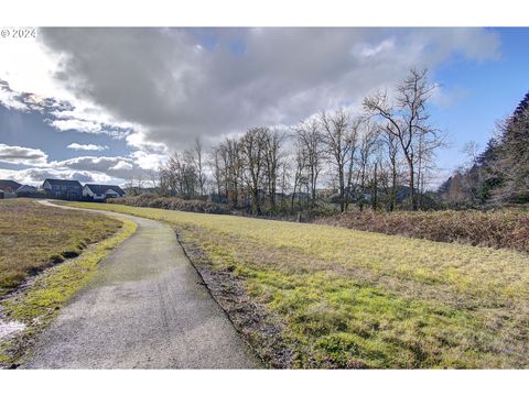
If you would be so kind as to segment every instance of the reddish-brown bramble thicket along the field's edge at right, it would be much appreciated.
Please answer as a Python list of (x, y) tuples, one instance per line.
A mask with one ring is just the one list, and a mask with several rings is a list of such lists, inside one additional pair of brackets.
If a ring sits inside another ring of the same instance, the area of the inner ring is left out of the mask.
[(529, 217), (518, 210), (350, 211), (316, 222), (438, 242), (529, 252)]

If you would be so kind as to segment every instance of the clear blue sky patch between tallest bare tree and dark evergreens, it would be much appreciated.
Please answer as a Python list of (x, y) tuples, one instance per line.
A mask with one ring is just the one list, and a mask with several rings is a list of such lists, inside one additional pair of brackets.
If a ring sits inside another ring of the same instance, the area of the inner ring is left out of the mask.
[(440, 165), (451, 169), (464, 162), (463, 145), (475, 141), (484, 148), (495, 122), (509, 116), (529, 91), (529, 29), (492, 29), (499, 33), (497, 59), (474, 62), (454, 56), (435, 72), (435, 80), (461, 98), (432, 107), (432, 117), (449, 132), (451, 147), (440, 153)]

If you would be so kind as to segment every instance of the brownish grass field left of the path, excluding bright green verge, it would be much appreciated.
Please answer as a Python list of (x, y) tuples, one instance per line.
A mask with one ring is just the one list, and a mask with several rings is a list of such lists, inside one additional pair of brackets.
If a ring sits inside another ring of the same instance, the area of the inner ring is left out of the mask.
[(0, 296), (24, 278), (115, 233), (121, 222), (100, 215), (0, 200)]

